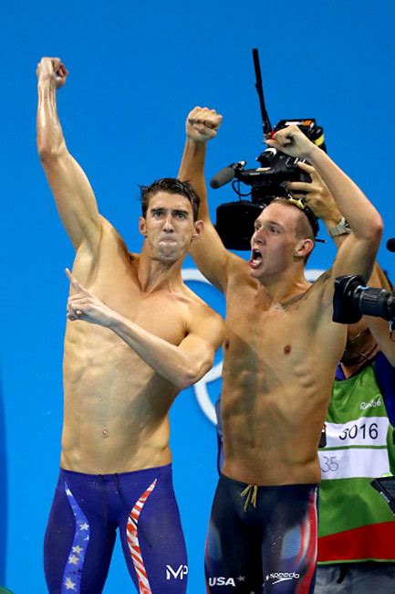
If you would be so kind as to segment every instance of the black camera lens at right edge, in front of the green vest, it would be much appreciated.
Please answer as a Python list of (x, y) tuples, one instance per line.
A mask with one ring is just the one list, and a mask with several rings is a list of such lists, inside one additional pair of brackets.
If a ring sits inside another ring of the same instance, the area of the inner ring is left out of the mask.
[(362, 315), (395, 322), (395, 293), (365, 286), (362, 276), (339, 276), (335, 279), (333, 321), (355, 324)]

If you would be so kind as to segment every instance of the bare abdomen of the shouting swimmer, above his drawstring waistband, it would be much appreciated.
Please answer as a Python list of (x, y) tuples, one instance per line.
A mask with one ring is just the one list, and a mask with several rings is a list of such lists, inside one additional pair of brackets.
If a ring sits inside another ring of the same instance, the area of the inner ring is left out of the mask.
[(239, 373), (235, 367), (229, 374), (224, 371), (223, 473), (248, 484), (319, 483), (317, 444), (330, 371), (326, 380), (319, 370), (296, 377), (287, 366), (277, 375), (272, 366), (271, 374), (267, 382), (262, 372), (245, 367)]

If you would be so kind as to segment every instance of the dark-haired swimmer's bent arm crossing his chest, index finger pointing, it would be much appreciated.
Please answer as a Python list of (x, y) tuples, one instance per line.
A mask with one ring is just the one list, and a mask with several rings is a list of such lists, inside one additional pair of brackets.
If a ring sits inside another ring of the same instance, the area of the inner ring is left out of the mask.
[(191, 315), (186, 336), (180, 345), (172, 345), (138, 324), (130, 322), (99, 301), (66, 270), (77, 292), (68, 299), (68, 320), (83, 321), (109, 328), (137, 355), (180, 390), (199, 381), (213, 366), (213, 357), (223, 342), (224, 324), (220, 315), (205, 304)]

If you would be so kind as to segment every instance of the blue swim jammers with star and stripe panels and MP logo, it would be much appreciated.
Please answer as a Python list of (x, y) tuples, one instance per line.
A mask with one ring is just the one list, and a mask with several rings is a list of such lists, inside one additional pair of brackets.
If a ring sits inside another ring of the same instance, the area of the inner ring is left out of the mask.
[(188, 562), (172, 465), (121, 474), (60, 470), (44, 543), (50, 594), (100, 594), (120, 530), (140, 594), (184, 594)]

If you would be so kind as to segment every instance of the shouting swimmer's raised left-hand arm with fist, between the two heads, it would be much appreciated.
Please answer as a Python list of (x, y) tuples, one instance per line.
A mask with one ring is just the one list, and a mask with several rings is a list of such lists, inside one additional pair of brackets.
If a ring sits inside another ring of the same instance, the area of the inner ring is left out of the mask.
[(222, 116), (214, 110), (195, 107), (187, 116), (187, 139), (182, 154), (179, 178), (190, 181), (201, 199), (199, 218), (203, 219), (204, 232), (199, 241), (194, 241), (191, 255), (199, 270), (220, 291), (224, 291), (227, 281), (227, 267), (230, 252), (223, 247), (218, 233), (213, 227), (207, 203), (207, 188), (204, 180), (204, 160), (207, 141), (216, 136)]

